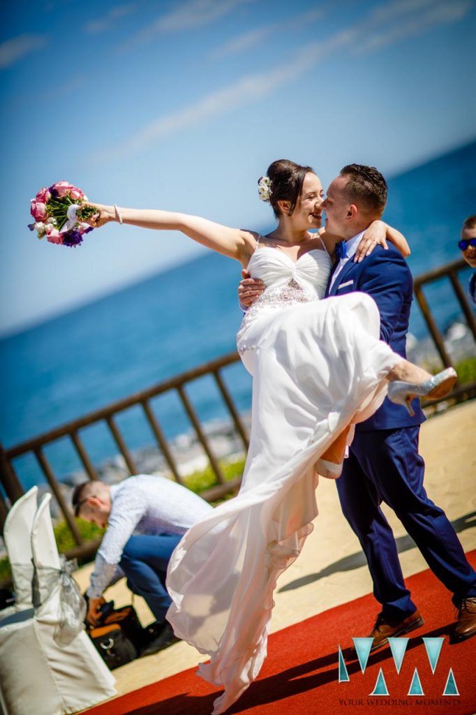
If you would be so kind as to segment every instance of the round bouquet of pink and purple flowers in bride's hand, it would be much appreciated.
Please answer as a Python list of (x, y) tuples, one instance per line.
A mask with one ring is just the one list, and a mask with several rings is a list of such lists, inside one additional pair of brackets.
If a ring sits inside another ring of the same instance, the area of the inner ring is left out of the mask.
[(50, 243), (79, 246), (83, 235), (92, 231), (92, 227), (81, 220), (97, 213), (94, 206), (81, 206), (87, 200), (81, 189), (67, 181), (40, 189), (31, 199), (31, 215), (35, 222), (28, 225), (29, 230), (36, 230), (39, 238), (46, 236)]

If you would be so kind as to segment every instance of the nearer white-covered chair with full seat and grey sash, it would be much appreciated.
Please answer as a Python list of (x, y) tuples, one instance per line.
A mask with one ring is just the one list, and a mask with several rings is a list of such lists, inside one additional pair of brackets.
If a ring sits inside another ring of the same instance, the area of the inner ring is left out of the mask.
[[(116, 694), (114, 677), (84, 630), (70, 633), (64, 642), (57, 638), (64, 573), (49, 515), (50, 499), (51, 495), (44, 495), (31, 528), (41, 603), (34, 618), (22, 621), (16, 614), (0, 621), (0, 689), (6, 715), (65, 715)], [(54, 571), (56, 583), (51, 578)]]

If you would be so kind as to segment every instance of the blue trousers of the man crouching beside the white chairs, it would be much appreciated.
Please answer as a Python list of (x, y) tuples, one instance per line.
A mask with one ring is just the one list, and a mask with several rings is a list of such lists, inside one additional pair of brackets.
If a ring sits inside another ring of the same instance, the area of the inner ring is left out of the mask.
[(172, 603), (165, 588), (165, 578), (172, 551), (181, 538), (176, 534), (131, 536), (119, 562), (129, 588), (144, 598), (159, 623), (165, 620)]

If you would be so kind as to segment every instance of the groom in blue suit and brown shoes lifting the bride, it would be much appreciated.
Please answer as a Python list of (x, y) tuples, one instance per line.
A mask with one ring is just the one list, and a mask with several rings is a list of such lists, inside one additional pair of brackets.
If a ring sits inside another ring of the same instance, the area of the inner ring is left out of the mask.
[[(363, 232), (380, 219), (387, 202), (387, 184), (374, 167), (349, 164), (332, 181), (322, 204), (327, 232), (341, 236), (341, 255), (329, 278), (326, 295), (354, 290), (368, 293), (380, 312), (380, 338), (405, 358), (413, 282), (405, 259), (391, 244), (375, 247), (362, 262), (353, 256)], [(247, 279), (247, 290), (262, 292)], [(410, 416), (402, 405), (383, 405), (356, 425), (349, 457), (344, 460), (337, 492), (345, 518), (359, 538), (382, 604), (370, 632), (372, 650), (423, 625), (423, 618), (405, 586), (397, 545), (380, 504), (388, 504), (413, 538), (435, 576), (452, 592), (458, 608), (453, 639), (476, 634), (476, 573), (445, 513), (427, 497), (425, 464), (418, 453), (420, 424), (425, 416), (417, 400)]]

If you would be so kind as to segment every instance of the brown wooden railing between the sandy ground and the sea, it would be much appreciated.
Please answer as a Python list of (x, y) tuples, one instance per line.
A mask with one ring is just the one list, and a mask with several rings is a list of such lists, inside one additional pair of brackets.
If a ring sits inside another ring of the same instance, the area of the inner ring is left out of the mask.
[[(450, 355), (448, 355), (448, 352), (445, 348), (445, 342), (443, 340), (442, 334), (437, 327), (435, 318), (432, 315), (430, 307), (423, 293), (423, 287), (442, 278), (450, 280), (452, 288), (455, 292), (455, 296), (460, 303), (463, 315), (465, 315), (467, 325), (470, 328), (472, 336), (476, 342), (475, 316), (467, 300), (466, 292), (462, 288), (460, 280), (457, 277), (457, 273), (462, 270), (463, 267), (465, 267), (465, 262), (463, 260), (457, 260), (437, 270), (433, 270), (423, 275), (420, 275), (415, 279), (415, 297), (420, 305), (423, 317), (425, 318), (428, 330), (430, 331), (430, 335), (432, 337), (433, 342), (435, 343), (435, 347), (440, 355), (442, 363), (447, 367), (452, 365), (452, 361), (450, 359)], [(235, 478), (232, 481), (224, 480), (224, 475), (222, 474), (222, 469), (220, 467), (217, 455), (214, 454), (210, 441), (207, 438), (204, 428), (200, 423), (199, 417), (194, 410), (194, 406), (189, 399), (189, 395), (187, 395), (186, 387), (187, 384), (191, 383), (193, 380), (197, 380), (197, 378), (203, 377), (204, 375), (213, 376), (219, 393), (222, 396), (224, 405), (226, 406), (229, 416), (232, 419), (232, 423), (234, 424), (234, 430), (236, 430), (237, 435), (243, 443), (243, 448), (246, 451), (248, 448), (247, 432), (244, 428), (242, 420), (239, 417), (238, 410), (234, 405), (232, 396), (230, 395), (222, 376), (222, 369), (227, 367), (227, 365), (236, 363), (238, 360), (239, 355), (237, 355), (236, 352), (231, 353), (229, 355), (224, 355), (222, 358), (212, 360), (211, 362), (205, 363), (204, 365), (200, 365), (198, 368), (194, 368), (193, 370), (188, 370), (186, 373), (182, 373), (182, 375), (177, 375), (174, 378), (165, 380), (164, 382), (159, 383), (159, 385), (154, 385), (154, 387), (152, 388), (143, 390), (139, 393), (135, 393), (128, 398), (124, 398), (124, 400), (119, 400), (115, 403), (112, 403), (111, 405), (107, 405), (101, 410), (96, 410), (89, 415), (84, 415), (84, 417), (73, 420), (66, 425), (62, 425), (61, 427), (56, 428), (54, 430), (50, 430), (49, 432), (46, 432), (44, 434), (38, 435), (37, 437), (32, 438), (31, 440), (23, 442), (19, 445), (15, 445), (14, 447), (8, 448), (6, 450), (4, 450), (4, 448), (2, 448), (0, 445), (1, 484), (3, 485), (3, 488), (6, 493), (6, 500), (3, 497), (0, 498), (1, 526), (3, 526), (6, 513), (9, 508), (9, 504), (16, 501), (16, 499), (24, 493), (24, 488), (21, 485), (21, 481), (16, 475), (16, 471), (14, 468), (14, 460), (16, 458), (19, 458), (20, 456), (30, 453), (34, 455), (37, 463), (39, 464), (39, 467), (41, 468), (41, 471), (44, 473), (44, 476), (46, 477), (46, 480), (49, 484), (49, 488), (51, 488), (51, 492), (56, 497), (59, 509), (63, 514), (66, 522), (68, 523), (71, 533), (74, 536), (76, 547), (67, 551), (66, 556), (71, 558), (74, 556), (84, 557), (90, 556), (91, 553), (94, 553), (95, 549), (97, 548), (97, 543), (83, 542), (71, 508), (64, 500), (61, 488), (59, 487), (59, 482), (56, 479), (54, 471), (46, 458), (46, 454), (44, 453), (44, 447), (45, 445), (49, 445), (50, 443), (53, 443), (60, 438), (69, 438), (69, 440), (71, 440), (71, 444), (74, 447), (74, 450), (76, 450), (76, 454), (78, 455), (79, 460), (81, 460), (86, 474), (89, 476), (90, 479), (97, 479), (98, 475), (96, 472), (96, 468), (94, 467), (94, 464), (92, 463), (91, 458), (87, 453), (84, 443), (81, 440), (80, 432), (81, 429), (89, 427), (89, 425), (93, 425), (96, 423), (106, 423), (107, 427), (109, 428), (109, 432), (111, 433), (111, 436), (116, 443), (119, 453), (121, 453), (122, 457), (124, 458), (124, 463), (127, 465), (129, 473), (137, 473), (137, 467), (134, 463), (134, 456), (127, 447), (127, 442), (124, 439), (122, 433), (120, 432), (115, 419), (116, 415), (121, 413), (123, 410), (131, 408), (134, 405), (140, 405), (142, 407), (147, 422), (149, 423), (150, 428), (152, 429), (152, 433), (154, 434), (154, 437), (157, 441), (159, 450), (161, 450), (162, 455), (164, 456), (164, 460), (169, 466), (170, 472), (172, 473), (174, 479), (177, 480), (177, 482), (183, 483), (183, 480), (179, 473), (179, 469), (177, 468), (177, 464), (174, 460), (172, 449), (167, 441), (166, 436), (164, 435), (164, 431), (162, 430), (157, 415), (154, 413), (154, 410), (151, 405), (152, 398), (157, 397), (157, 395), (162, 395), (163, 393), (174, 392), (179, 396), (184, 410), (187, 413), (190, 423), (192, 424), (194, 431), (197, 435), (197, 440), (199, 440), (199, 443), (202, 444), (204, 453), (207, 455), (209, 464), (211, 465), (211, 468), (216, 475), (217, 485), (202, 493), (202, 496), (209, 501), (214, 501), (226, 495), (227, 493), (231, 493), (237, 488), (237, 486), (239, 486), (240, 479)], [(466, 383), (465, 385), (457, 383), (455, 385), (455, 388), (452, 390), (452, 393), (450, 393), (450, 395), (447, 395), (445, 400), (459, 401), (466, 400), (475, 396), (476, 381), (472, 381), (470, 383)], [(435, 402), (437, 402), (437, 400), (435, 400)], [(432, 404), (432, 402), (427, 404)]]

